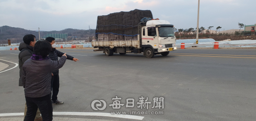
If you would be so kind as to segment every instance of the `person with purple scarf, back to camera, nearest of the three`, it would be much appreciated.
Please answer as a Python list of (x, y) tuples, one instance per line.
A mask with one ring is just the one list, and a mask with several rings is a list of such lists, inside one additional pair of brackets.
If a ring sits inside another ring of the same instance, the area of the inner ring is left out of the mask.
[(24, 121), (33, 121), (39, 108), (43, 121), (52, 121), (51, 79), (52, 71), (60, 69), (66, 62), (66, 53), (59, 61), (47, 56), (52, 45), (47, 41), (38, 41), (34, 53), (22, 66), (22, 85), (28, 107)]

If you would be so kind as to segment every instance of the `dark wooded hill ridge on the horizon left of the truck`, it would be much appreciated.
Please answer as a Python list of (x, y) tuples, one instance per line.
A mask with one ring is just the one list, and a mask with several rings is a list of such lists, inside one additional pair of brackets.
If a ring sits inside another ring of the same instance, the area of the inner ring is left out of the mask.
[[(36, 39), (39, 39), (38, 31), (25, 30), (23, 28), (15, 28), (10, 26), (1, 26), (0, 27), (0, 44), (6, 44), (7, 38), (9, 38), (12, 43), (14, 42), (23, 42), (23, 37), (26, 34), (33, 34), (36, 36)], [(78, 30), (67, 28), (60, 31), (40, 31), (40, 37), (43, 38), (47, 34), (68, 34), (67, 40), (74, 40), (72, 36), (76, 36), (75, 40), (87, 40), (87, 37), (92, 38), (95, 36), (95, 29), (90, 30)]]

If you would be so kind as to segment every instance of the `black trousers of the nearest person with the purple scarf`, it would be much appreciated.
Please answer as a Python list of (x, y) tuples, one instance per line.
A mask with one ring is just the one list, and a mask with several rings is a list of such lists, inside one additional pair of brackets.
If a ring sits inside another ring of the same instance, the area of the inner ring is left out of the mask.
[(42, 114), (43, 121), (52, 121), (52, 101), (51, 95), (46, 95), (44, 97), (26, 97), (27, 103), (27, 114), (24, 121), (34, 121), (36, 117), (37, 108)]

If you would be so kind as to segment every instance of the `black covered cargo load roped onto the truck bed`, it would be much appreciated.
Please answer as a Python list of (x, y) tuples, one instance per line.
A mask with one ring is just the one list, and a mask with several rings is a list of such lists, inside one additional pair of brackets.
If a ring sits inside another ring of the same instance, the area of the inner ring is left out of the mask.
[(98, 16), (96, 37), (100, 41), (137, 40), (142, 18), (153, 18), (150, 10), (132, 10)]

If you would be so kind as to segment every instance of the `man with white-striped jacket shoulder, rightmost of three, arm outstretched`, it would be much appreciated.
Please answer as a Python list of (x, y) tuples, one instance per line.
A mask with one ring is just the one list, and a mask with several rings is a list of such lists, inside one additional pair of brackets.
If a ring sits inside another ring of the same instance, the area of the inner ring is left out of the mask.
[[(61, 57), (64, 53), (56, 50), (55, 38), (47, 37), (46, 41), (52, 44), (52, 51), (49, 54), (49, 58), (53, 61), (57, 61), (58, 57)], [(77, 58), (67, 55), (68, 60), (79, 61)], [(59, 93), (60, 87), (60, 78), (59, 78), (59, 70), (52, 71), (52, 105), (63, 104), (63, 101), (59, 101), (57, 95)]]

